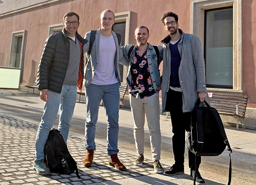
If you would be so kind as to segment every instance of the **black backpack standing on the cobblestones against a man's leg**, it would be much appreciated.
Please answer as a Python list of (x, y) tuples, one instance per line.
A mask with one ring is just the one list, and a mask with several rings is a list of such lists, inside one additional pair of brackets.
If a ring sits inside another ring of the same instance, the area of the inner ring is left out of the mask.
[(77, 163), (68, 152), (68, 147), (57, 129), (51, 129), (44, 147), (44, 161), (53, 173), (72, 174), (76, 170), (77, 178), (81, 179)]

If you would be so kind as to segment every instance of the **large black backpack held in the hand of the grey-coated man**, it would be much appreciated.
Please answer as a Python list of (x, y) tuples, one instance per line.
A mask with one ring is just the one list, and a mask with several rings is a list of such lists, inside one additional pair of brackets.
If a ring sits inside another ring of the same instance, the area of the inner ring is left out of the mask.
[[(217, 156), (228, 146), (228, 151), (232, 153), (218, 111), (211, 107), (205, 100), (204, 103), (206, 106), (199, 106), (200, 99), (198, 98), (196, 106), (192, 110), (191, 133), (187, 132), (186, 136), (188, 150), (197, 156)], [(228, 185), (231, 182), (232, 171), (230, 153)], [(198, 169), (196, 167), (196, 173), (197, 171)], [(196, 178), (194, 178), (194, 185), (195, 180)]]

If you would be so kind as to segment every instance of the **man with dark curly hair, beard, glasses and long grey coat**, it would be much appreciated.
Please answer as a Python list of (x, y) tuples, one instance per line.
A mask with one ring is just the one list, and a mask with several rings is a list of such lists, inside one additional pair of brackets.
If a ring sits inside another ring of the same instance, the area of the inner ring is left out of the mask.
[[(161, 18), (168, 35), (163, 43), (163, 112), (169, 111), (172, 120), (172, 148), (175, 163), (165, 175), (184, 174), (185, 131), (189, 132), (191, 111), (200, 98), (209, 102), (205, 83), (204, 55), (200, 39), (179, 29), (178, 15), (167, 12)], [(196, 162), (195, 162), (196, 161)], [(191, 179), (201, 157), (188, 151), (188, 166)], [(196, 184), (204, 184), (200, 173), (196, 173)]]

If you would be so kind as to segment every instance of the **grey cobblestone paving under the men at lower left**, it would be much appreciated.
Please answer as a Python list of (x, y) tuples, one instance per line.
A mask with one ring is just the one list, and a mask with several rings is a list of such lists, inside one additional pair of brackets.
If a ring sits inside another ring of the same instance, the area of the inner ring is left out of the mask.
[[(119, 152), (119, 159), (127, 167), (126, 172), (121, 172), (108, 165), (107, 148), (97, 145), (94, 153), (92, 167), (82, 165), (85, 156), (84, 139), (74, 136), (68, 137), (68, 150), (78, 163), (76, 174), (64, 175), (52, 173), (50, 176), (38, 175), (33, 170), (35, 138), (38, 126), (0, 113), (0, 185), (7, 184), (91, 184), (117, 179), (125, 179), (154, 174), (150, 160), (145, 159), (141, 167), (132, 165), (137, 157), (135, 155)], [(166, 165), (162, 165), (167, 168)]]

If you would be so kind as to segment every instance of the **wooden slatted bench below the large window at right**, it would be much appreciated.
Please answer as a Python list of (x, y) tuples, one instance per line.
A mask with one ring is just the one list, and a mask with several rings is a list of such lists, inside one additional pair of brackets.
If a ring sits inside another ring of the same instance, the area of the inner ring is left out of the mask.
[(208, 92), (211, 107), (218, 110), (219, 114), (234, 116), (236, 118), (236, 130), (238, 130), (239, 117), (243, 119), (242, 128), (244, 129), (244, 117), (248, 96), (230, 95), (215, 92)]

